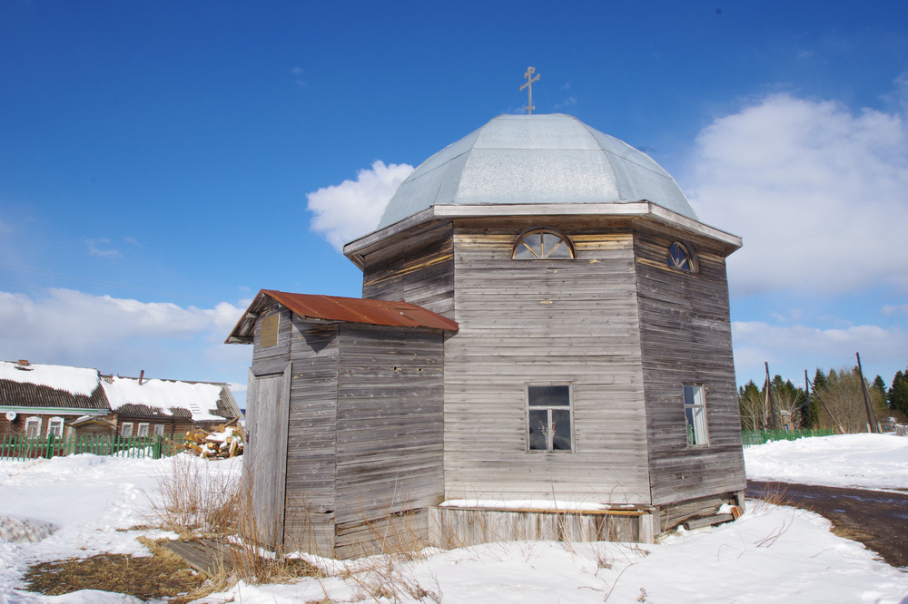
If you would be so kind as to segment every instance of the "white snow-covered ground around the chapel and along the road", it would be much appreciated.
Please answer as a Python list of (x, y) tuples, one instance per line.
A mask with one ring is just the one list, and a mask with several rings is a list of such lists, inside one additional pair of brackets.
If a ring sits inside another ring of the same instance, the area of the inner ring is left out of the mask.
[[(874, 434), (769, 443), (745, 450), (749, 478), (833, 486), (908, 489), (908, 438)], [(78, 455), (0, 461), (0, 603), (133, 602), (79, 591), (44, 597), (17, 590), (35, 561), (102, 551), (142, 553), (156, 477), (168, 460)], [(194, 461), (192, 463), (203, 463)], [(208, 462), (214, 474), (232, 461)], [(748, 502), (738, 521), (682, 532), (656, 545), (497, 543), (426, 550), (416, 560), (312, 559), (329, 576), (291, 584), (239, 584), (205, 601), (244, 604), (321, 601), (423, 602), (887, 602), (908, 597), (908, 572), (876, 560), (863, 545), (836, 537), (809, 511)], [(50, 532), (53, 531), (53, 532)], [(49, 536), (44, 537), (48, 532)], [(44, 539), (41, 539), (44, 537)], [(41, 539), (41, 541), (29, 541)], [(391, 594), (381, 598), (379, 591)], [(420, 591), (421, 590), (421, 591)], [(371, 594), (371, 595), (370, 595)], [(375, 596), (375, 597), (373, 597)]]

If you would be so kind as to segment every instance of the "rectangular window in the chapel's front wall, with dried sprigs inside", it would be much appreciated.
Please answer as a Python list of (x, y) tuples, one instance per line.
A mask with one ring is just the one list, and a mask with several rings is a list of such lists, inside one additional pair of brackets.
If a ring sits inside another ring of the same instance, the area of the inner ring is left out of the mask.
[(530, 451), (572, 451), (569, 385), (528, 385)]

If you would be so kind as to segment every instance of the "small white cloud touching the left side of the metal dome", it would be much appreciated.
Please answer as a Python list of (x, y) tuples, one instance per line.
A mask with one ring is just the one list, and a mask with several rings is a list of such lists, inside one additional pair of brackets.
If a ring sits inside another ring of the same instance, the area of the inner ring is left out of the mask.
[(413, 167), (375, 161), (370, 170), (360, 170), (356, 180), (344, 180), (306, 195), (315, 214), (311, 227), (339, 251), (351, 239), (375, 229), (388, 200)]

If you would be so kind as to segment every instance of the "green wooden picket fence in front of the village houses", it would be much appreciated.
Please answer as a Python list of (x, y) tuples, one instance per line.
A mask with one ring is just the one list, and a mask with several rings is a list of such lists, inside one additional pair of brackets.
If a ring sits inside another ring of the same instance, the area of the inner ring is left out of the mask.
[(0, 436), (0, 459), (26, 460), (50, 459), (76, 453), (113, 455), (117, 457), (151, 457), (173, 455), (182, 447), (161, 436), (70, 436), (56, 437), (53, 434), (40, 438), (6, 434)]

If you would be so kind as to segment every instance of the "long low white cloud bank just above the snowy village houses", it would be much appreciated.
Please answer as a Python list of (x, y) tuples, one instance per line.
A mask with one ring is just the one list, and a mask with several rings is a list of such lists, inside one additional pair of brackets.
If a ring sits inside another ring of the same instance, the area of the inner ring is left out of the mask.
[[(184, 308), (72, 289), (50, 289), (47, 297), (0, 292), (0, 358), (125, 375), (141, 367), (163, 377), (202, 380), (230, 365), (242, 376), (248, 347), (222, 342), (243, 310), (227, 302)], [(206, 361), (219, 368), (206, 368)]]

